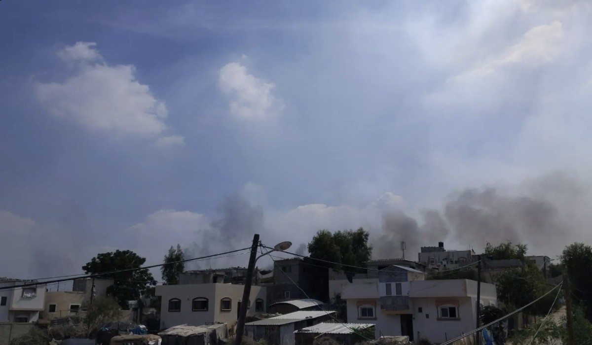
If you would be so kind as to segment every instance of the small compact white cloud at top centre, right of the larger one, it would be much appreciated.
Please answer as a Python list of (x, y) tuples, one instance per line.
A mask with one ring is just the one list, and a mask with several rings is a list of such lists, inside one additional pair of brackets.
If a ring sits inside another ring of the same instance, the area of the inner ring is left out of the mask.
[(237, 117), (266, 120), (284, 108), (271, 94), (275, 85), (249, 74), (240, 63), (231, 62), (222, 67), (218, 85), (230, 96), (230, 112)]

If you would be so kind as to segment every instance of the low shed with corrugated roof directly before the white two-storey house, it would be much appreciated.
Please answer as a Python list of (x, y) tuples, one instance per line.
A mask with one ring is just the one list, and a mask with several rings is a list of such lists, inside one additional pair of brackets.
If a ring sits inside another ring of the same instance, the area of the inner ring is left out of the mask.
[(366, 328), (374, 333), (374, 324), (320, 323), (294, 331), (295, 345), (313, 345), (320, 336), (332, 338), (338, 344), (355, 345), (359, 341), (355, 333)]

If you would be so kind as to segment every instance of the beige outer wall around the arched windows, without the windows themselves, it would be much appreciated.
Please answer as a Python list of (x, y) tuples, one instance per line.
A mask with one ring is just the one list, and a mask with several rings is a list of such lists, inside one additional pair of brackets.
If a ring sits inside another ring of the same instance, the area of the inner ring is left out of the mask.
[[(244, 285), (237, 284), (186, 284), (186, 285), (159, 285), (156, 286), (156, 295), (161, 296), (160, 327), (168, 328), (180, 324), (204, 325), (206, 323), (226, 323), (229, 331), (233, 330), (238, 316), (239, 301), (243, 296)], [(194, 298), (208, 299), (207, 311), (192, 311)], [(169, 300), (181, 299), (181, 311), (169, 312)], [(221, 310), (221, 299), (231, 299), (231, 310)], [(255, 301), (261, 298), (266, 300), (266, 289), (262, 286), (252, 286), (250, 301), (251, 307), (247, 310), (247, 316), (256, 314)], [(267, 306), (264, 306), (264, 309)]]

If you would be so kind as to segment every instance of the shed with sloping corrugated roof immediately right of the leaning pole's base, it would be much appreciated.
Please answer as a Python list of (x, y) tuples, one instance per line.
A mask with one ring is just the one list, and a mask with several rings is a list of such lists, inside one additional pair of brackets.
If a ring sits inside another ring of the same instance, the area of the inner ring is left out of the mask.
[(294, 345), (294, 331), (332, 320), (334, 311), (297, 311), (244, 325), (246, 336), (268, 344)]

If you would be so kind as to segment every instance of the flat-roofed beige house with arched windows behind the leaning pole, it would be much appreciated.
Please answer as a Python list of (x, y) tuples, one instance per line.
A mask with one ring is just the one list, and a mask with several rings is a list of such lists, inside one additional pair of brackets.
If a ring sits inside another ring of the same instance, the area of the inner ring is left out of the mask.
[[(239, 317), (244, 285), (199, 283), (156, 286), (161, 298), (160, 329), (188, 324), (226, 323), (233, 333)], [(253, 285), (247, 301), (247, 317), (265, 312), (265, 286)]]

